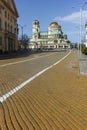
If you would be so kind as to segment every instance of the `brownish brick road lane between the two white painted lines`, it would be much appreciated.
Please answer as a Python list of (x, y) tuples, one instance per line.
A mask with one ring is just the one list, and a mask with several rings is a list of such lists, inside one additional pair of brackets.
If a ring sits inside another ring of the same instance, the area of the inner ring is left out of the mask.
[[(34, 55), (33, 58), (21, 59), (19, 61), (4, 63), (0, 65), (0, 97), (11, 90), (15, 91), (19, 85), (24, 87), (32, 77), (39, 72), (55, 64), (63, 58), (68, 51), (47, 53), (46, 55)], [(12, 94), (10, 94), (12, 95)], [(3, 97), (6, 98), (6, 95)], [(2, 98), (1, 98), (2, 99)], [(3, 100), (3, 99), (2, 99)]]

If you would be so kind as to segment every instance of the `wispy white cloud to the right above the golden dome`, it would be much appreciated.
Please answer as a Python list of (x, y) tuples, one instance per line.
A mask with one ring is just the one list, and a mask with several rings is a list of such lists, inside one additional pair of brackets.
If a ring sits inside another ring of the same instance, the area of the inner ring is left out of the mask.
[[(54, 18), (54, 20), (79, 24), (80, 18), (81, 18), (81, 13), (75, 12), (75, 13), (69, 14), (69, 15), (64, 16), (64, 17), (57, 16), (57, 17)], [(83, 22), (83, 24), (85, 24), (86, 21), (87, 21), (87, 10), (84, 10), (84, 11), (82, 11), (82, 22)]]

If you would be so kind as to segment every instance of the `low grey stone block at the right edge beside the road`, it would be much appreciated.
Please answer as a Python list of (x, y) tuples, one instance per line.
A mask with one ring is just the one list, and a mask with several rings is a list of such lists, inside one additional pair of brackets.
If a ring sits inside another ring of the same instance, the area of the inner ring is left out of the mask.
[(87, 55), (79, 53), (80, 73), (87, 75)]

